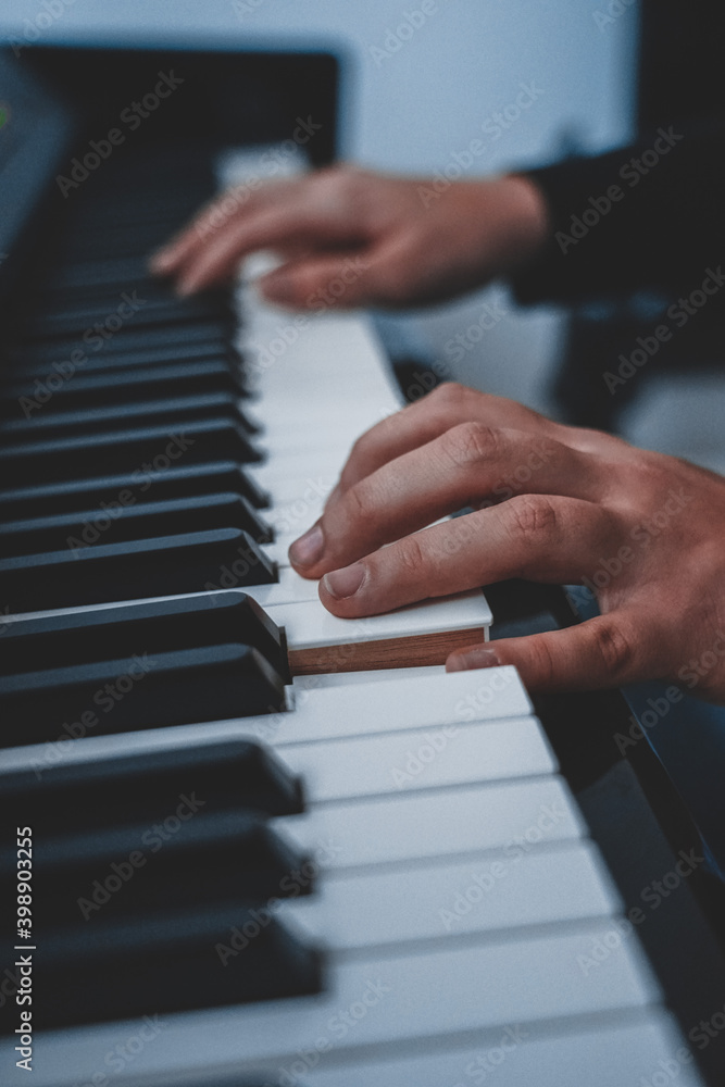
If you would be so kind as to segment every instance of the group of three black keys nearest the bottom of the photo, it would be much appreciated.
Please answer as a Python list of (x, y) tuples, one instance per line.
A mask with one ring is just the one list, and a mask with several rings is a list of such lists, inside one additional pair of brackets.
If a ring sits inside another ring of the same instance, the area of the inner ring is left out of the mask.
[[(34, 1024), (317, 991), (316, 951), (260, 914), (312, 889), (311, 862), (267, 822), (301, 810), (300, 783), (245, 740), (0, 774), (3, 826), (33, 828)], [(13, 913), (16, 864), (7, 841)]]

